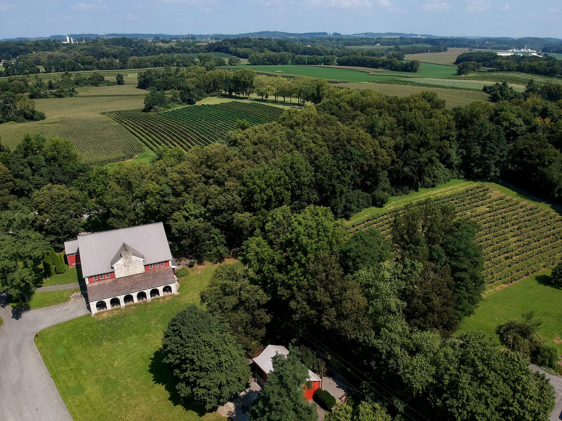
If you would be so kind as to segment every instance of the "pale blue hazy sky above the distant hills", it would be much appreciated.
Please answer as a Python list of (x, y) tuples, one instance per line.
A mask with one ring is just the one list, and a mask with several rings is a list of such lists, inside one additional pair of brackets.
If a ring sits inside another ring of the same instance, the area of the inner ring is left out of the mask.
[(262, 30), (562, 38), (562, 1), (0, 0), (0, 38)]

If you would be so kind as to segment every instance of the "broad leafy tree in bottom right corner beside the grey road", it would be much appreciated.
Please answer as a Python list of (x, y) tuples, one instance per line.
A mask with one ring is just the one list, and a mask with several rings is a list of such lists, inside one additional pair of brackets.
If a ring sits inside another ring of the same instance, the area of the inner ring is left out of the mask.
[(484, 333), (451, 338), (439, 350), (434, 365), (429, 399), (436, 419), (550, 419), (555, 393), (544, 374), (529, 368), (527, 356), (501, 350)]

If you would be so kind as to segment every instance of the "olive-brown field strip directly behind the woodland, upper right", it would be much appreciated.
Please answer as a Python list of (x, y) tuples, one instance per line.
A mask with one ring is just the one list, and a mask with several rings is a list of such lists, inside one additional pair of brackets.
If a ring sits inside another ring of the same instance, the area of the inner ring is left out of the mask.
[(338, 88), (353, 88), (353, 89), (373, 89), (384, 95), (411, 95), (419, 92), (431, 90), (437, 92), (437, 96), (444, 99), (448, 108), (456, 106), (465, 106), (475, 100), (487, 100), (488, 94), (473, 91), (473, 90), (460, 90), (460, 89), (445, 89), (445, 88), (424, 88), (422, 86), (412, 85), (394, 85), (382, 83), (338, 83), (332, 86)]

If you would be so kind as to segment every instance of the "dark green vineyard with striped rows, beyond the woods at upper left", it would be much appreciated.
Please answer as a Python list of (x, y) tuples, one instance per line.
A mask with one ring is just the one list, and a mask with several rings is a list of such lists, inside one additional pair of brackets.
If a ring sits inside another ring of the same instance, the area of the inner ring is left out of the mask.
[(260, 103), (229, 101), (212, 105), (175, 108), (160, 113), (119, 111), (107, 116), (121, 123), (148, 148), (160, 146), (189, 149), (225, 140), (236, 120), (246, 118), (252, 125), (278, 120), (279, 107)]

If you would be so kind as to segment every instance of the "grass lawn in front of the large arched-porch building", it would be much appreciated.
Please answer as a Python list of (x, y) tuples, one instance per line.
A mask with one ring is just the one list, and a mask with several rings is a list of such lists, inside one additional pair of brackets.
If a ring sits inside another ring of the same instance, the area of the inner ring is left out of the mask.
[(216, 265), (190, 269), (179, 295), (85, 315), (43, 330), (35, 343), (75, 421), (224, 419), (184, 402), (162, 364), (162, 333), (199, 303)]

